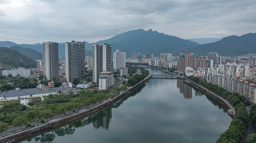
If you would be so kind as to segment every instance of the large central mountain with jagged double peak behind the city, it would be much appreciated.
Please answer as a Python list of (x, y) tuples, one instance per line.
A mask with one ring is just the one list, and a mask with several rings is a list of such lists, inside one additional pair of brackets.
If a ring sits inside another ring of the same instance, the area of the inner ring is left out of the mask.
[(132, 57), (132, 53), (139, 52), (142, 55), (149, 52), (155, 56), (159, 56), (160, 53), (172, 53), (177, 49), (200, 45), (190, 40), (152, 31), (152, 29), (149, 29), (148, 31), (137, 29), (95, 43), (88, 43), (85, 41), (85, 47), (86, 49), (91, 50), (92, 44), (104, 43), (112, 44), (112, 52), (115, 52), (116, 49), (119, 49), (120, 52), (126, 52), (126, 57)]

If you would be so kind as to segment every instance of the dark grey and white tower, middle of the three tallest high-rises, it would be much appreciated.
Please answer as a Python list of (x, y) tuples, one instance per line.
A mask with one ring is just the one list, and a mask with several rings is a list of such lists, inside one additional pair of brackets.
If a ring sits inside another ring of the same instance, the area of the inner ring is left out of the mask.
[(74, 78), (85, 75), (84, 42), (65, 42), (66, 78), (67, 82), (73, 82)]

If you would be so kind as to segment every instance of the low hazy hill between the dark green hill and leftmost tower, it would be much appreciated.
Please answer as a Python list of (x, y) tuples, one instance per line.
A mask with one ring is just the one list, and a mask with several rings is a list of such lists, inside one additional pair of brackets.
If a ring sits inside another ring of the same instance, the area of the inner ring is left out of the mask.
[(37, 52), (34, 49), (31, 48), (22, 48), (20, 46), (11, 46), (11, 49), (16, 49), (20, 52), (20, 54), (23, 54), (33, 60), (41, 60), (43, 59), (43, 54), (40, 52)]

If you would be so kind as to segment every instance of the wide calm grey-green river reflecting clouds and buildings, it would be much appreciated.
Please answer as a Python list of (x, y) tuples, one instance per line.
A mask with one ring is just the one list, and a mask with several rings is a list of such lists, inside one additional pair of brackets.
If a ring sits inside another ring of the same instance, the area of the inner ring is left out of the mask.
[(14, 142), (214, 143), (232, 121), (224, 110), (183, 80), (153, 78), (111, 107)]

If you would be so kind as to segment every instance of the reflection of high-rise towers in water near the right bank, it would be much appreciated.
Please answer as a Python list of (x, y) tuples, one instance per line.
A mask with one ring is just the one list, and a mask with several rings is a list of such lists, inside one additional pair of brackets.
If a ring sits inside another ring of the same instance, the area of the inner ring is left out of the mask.
[(184, 80), (177, 79), (177, 87), (180, 88), (180, 92), (183, 93), (183, 97), (186, 99), (192, 98), (192, 87), (190, 87)]

